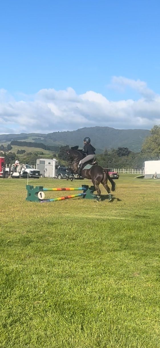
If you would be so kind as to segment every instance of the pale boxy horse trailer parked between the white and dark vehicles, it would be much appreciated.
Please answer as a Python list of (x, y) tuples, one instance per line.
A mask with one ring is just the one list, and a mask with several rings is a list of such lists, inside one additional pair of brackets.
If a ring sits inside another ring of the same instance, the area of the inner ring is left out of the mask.
[(56, 158), (39, 158), (36, 160), (36, 169), (40, 170), (41, 177), (56, 177), (58, 161)]

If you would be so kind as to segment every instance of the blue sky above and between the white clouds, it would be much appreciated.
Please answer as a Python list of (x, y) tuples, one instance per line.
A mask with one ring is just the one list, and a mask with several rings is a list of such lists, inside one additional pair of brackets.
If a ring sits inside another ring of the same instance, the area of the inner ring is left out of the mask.
[[(123, 88), (121, 84), (118, 88), (111, 82), (113, 76), (122, 76), (131, 81), (144, 81), (156, 95), (160, 94), (160, 2), (157, 0), (6, 0), (0, 4), (0, 32), (0, 88), (7, 91), (5, 100), (2, 97), (1, 100), (6, 108), (7, 103), (14, 100), (12, 119), (8, 114), (3, 117), (4, 105), (0, 109), (4, 132), (17, 128), (25, 131), (20, 115), (16, 120), (19, 111), (15, 103), (34, 101), (32, 112), (36, 113), (35, 95), (40, 90), (59, 91), (70, 87), (77, 96), (93, 91), (109, 101), (140, 100), (140, 89), (133, 88), (133, 83), (123, 83)], [(64, 101), (63, 106), (66, 106)], [(55, 119), (58, 118), (56, 107), (57, 104), (52, 111)], [(69, 112), (72, 110), (73, 116), (77, 117), (74, 109), (75, 105)], [(28, 117), (21, 106), (20, 110), (22, 119)], [(86, 122), (89, 121), (86, 126), (98, 125), (94, 116), (94, 122), (91, 122), (82, 111), (90, 114), (91, 108), (81, 110), (81, 121), (73, 126), (66, 123), (65, 130), (75, 129), (81, 122), (85, 126), (85, 117)], [(38, 115), (41, 117), (39, 110)], [(142, 118), (143, 113), (139, 116)], [(159, 116), (156, 110), (155, 115), (151, 114), (151, 122), (140, 122), (137, 128), (150, 128), (156, 119), (159, 122)], [(51, 122), (49, 117), (45, 132), (50, 127), (53, 131), (61, 130), (62, 118), (56, 124), (55, 119)], [(111, 126), (108, 113), (106, 121), (102, 110), (99, 117), (103, 118), (100, 125)], [(137, 119), (132, 121), (130, 128), (136, 122)], [(129, 127), (129, 119), (121, 122), (118, 118), (117, 125), (114, 120), (112, 126)], [(31, 122), (29, 128), (38, 132), (40, 125)]]

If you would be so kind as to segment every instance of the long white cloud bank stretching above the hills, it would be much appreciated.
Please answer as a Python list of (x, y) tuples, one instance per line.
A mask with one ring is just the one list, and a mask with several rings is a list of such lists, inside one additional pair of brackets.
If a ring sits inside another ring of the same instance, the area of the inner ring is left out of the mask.
[(147, 128), (160, 124), (160, 95), (140, 80), (113, 77), (112, 87), (135, 89), (140, 98), (109, 101), (103, 95), (88, 91), (41, 89), (32, 96), (21, 94), (16, 101), (6, 90), (0, 90), (0, 133), (49, 133), (90, 126), (114, 128)]

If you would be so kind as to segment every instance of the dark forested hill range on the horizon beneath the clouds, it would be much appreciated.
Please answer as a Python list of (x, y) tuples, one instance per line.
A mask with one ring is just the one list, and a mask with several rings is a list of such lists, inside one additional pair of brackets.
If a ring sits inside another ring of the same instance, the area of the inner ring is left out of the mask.
[(79, 145), (83, 146), (85, 136), (91, 138), (91, 143), (97, 150), (102, 152), (105, 148), (112, 149), (127, 147), (132, 151), (138, 151), (146, 136), (150, 135), (147, 129), (115, 129), (111, 127), (85, 127), (72, 132), (53, 132), (49, 134), (21, 133), (0, 135), (0, 144), (9, 143), (13, 140), (39, 142), (45, 145)]

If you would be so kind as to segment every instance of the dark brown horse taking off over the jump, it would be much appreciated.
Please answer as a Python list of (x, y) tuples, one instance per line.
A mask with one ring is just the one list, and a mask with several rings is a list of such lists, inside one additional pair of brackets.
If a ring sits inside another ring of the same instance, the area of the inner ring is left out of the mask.
[[(71, 168), (71, 171), (73, 173), (77, 173), (78, 171), (78, 163), (82, 159), (82, 150), (75, 150), (70, 149), (68, 150), (68, 158), (69, 158), (69, 166)], [(85, 163), (86, 165), (87, 163)], [(109, 201), (112, 200), (112, 196), (110, 193), (110, 188), (107, 185), (107, 181), (109, 180), (112, 188), (111, 191), (115, 191), (116, 184), (115, 182), (110, 178), (107, 169), (103, 169), (101, 166), (95, 166), (93, 165), (90, 169), (83, 169), (82, 168), (82, 176), (86, 179), (91, 179), (92, 183), (94, 185), (95, 190), (97, 191), (97, 199), (98, 202), (100, 200), (101, 190), (99, 188), (99, 184), (101, 183), (104, 188), (108, 192)]]

